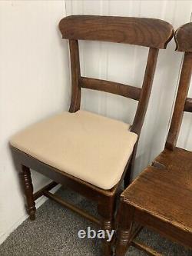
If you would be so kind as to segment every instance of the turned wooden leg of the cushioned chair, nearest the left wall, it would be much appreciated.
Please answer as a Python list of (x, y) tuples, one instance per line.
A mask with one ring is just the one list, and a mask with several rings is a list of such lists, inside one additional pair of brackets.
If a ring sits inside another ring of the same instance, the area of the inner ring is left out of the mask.
[(22, 187), (24, 190), (27, 212), (31, 221), (35, 220), (35, 200), (33, 197), (33, 185), (31, 181), (31, 171), (28, 167), (22, 165), (22, 171), (20, 172), (20, 178), (22, 181)]

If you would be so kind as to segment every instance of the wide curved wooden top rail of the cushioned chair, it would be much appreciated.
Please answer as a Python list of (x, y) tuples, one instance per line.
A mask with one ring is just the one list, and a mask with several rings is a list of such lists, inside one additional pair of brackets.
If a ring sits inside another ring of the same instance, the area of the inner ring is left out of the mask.
[(71, 15), (61, 19), (63, 38), (96, 40), (166, 48), (174, 28), (156, 18)]

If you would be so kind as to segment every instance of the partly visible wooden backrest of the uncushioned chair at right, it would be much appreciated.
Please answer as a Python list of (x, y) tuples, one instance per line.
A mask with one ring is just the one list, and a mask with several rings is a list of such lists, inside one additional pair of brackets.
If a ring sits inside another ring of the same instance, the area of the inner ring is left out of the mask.
[(180, 81), (174, 105), (165, 148), (174, 150), (180, 132), (184, 111), (192, 112), (192, 98), (187, 98), (192, 72), (192, 22), (187, 23), (175, 32), (176, 50), (184, 52), (184, 61), (180, 72)]

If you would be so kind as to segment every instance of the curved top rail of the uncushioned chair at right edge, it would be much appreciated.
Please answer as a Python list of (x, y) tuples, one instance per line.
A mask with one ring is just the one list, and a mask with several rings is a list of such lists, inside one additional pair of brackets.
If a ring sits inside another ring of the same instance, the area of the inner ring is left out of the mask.
[(192, 52), (192, 22), (177, 28), (174, 35), (179, 52)]

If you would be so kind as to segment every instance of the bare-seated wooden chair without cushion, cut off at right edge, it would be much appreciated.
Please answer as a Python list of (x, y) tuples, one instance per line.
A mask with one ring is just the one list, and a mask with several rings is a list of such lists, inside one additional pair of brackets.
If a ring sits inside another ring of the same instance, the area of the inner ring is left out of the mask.
[(147, 254), (161, 255), (134, 240), (142, 226), (192, 248), (192, 152), (176, 147), (184, 111), (192, 112), (192, 98), (187, 98), (192, 71), (192, 23), (178, 28), (175, 40), (177, 51), (185, 54), (166, 145), (152, 166), (121, 194), (117, 256), (125, 255), (131, 245)]

